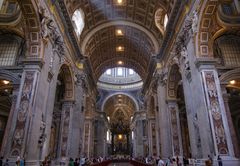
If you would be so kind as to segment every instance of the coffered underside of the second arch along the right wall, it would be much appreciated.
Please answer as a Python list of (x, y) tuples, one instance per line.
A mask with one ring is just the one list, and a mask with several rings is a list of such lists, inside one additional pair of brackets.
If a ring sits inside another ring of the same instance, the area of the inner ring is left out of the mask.
[(179, 66), (177, 64), (173, 64), (170, 68), (170, 72), (168, 75), (168, 82), (167, 82), (167, 98), (168, 99), (177, 98), (177, 88), (181, 79), (182, 79), (182, 76), (181, 76), (181, 73), (179, 72)]

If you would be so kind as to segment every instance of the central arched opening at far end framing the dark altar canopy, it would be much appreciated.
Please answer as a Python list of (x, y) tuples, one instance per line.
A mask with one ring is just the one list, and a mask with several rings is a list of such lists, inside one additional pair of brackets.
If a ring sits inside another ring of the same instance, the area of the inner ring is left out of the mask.
[(130, 155), (132, 132), (130, 124), (136, 111), (135, 102), (124, 94), (110, 97), (104, 104), (104, 112), (110, 126), (109, 152), (112, 155)]

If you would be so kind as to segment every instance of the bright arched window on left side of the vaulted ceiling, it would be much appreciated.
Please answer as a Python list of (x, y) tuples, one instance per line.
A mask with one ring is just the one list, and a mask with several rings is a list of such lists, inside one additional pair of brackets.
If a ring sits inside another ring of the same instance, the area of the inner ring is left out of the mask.
[(77, 9), (73, 13), (72, 21), (77, 36), (80, 36), (84, 28), (84, 13), (81, 9)]

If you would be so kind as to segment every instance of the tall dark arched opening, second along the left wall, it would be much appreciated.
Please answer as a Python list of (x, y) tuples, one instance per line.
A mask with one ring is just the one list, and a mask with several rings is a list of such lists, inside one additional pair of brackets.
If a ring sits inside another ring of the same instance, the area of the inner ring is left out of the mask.
[[(60, 68), (57, 78), (57, 86), (52, 115), (51, 132), (49, 139), (49, 155), (52, 159), (59, 158), (62, 154), (63, 124), (65, 125), (66, 115), (63, 114), (65, 102), (73, 99), (73, 84), (71, 72), (67, 65)], [(65, 135), (67, 137), (67, 135)], [(61, 149), (61, 151), (60, 151)]]

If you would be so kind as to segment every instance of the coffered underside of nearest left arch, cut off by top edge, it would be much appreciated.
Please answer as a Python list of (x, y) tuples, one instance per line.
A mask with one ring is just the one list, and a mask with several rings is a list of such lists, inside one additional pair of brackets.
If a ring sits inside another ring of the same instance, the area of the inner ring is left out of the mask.
[(40, 18), (38, 4), (35, 0), (18, 0), (17, 1), (24, 18), (25, 38), (27, 40), (28, 58), (37, 58), (40, 56), (41, 38), (40, 38)]

